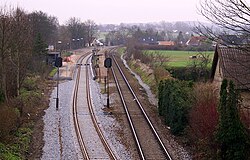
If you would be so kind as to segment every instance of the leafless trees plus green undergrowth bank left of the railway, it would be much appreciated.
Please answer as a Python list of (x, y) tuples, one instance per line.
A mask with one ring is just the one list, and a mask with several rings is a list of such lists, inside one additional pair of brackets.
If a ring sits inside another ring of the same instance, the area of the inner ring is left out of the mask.
[(31, 135), (48, 105), (47, 76), (53, 68), (47, 63), (49, 46), (54, 51), (82, 48), (96, 33), (92, 20), (73, 17), (59, 25), (42, 11), (0, 7), (0, 159), (32, 156)]

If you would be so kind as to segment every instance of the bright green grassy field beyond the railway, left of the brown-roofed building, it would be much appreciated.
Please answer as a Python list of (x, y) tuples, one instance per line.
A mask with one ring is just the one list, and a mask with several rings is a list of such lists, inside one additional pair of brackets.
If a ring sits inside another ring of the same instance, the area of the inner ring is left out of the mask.
[(162, 54), (170, 58), (169, 62), (166, 62), (169, 67), (186, 67), (192, 60), (190, 56), (197, 56), (202, 53), (203, 55), (209, 55), (210, 65), (212, 64), (214, 51), (208, 52), (195, 52), (195, 51), (172, 51), (172, 50), (147, 50), (145, 54)]

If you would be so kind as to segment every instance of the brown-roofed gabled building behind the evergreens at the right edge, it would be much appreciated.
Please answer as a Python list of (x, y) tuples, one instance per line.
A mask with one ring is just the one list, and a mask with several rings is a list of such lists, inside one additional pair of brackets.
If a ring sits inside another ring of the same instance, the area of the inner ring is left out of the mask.
[(211, 78), (234, 81), (237, 89), (250, 90), (250, 51), (217, 45), (214, 53)]

